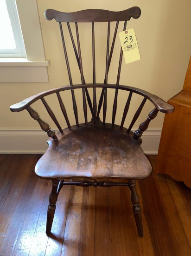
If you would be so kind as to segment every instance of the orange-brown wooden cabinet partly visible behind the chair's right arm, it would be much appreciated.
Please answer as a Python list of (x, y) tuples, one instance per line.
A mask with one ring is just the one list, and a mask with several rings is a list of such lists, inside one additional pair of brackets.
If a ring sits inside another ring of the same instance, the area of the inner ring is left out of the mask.
[(183, 90), (168, 103), (175, 111), (165, 115), (155, 174), (168, 174), (191, 188), (191, 59)]

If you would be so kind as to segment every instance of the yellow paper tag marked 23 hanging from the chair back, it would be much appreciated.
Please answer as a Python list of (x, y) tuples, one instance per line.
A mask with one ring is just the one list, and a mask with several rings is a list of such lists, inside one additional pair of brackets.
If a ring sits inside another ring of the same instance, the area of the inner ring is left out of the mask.
[(119, 34), (125, 63), (140, 60), (140, 52), (137, 44), (134, 28), (122, 31)]

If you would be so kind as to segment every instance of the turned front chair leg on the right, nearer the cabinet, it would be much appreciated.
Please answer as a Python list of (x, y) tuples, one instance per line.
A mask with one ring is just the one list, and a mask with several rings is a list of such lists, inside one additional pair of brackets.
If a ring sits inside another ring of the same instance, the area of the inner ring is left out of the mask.
[(135, 180), (129, 180), (129, 188), (131, 190), (131, 202), (133, 203), (134, 219), (137, 226), (138, 235), (143, 236), (143, 225), (141, 217), (141, 209), (139, 205), (139, 196), (135, 187)]

